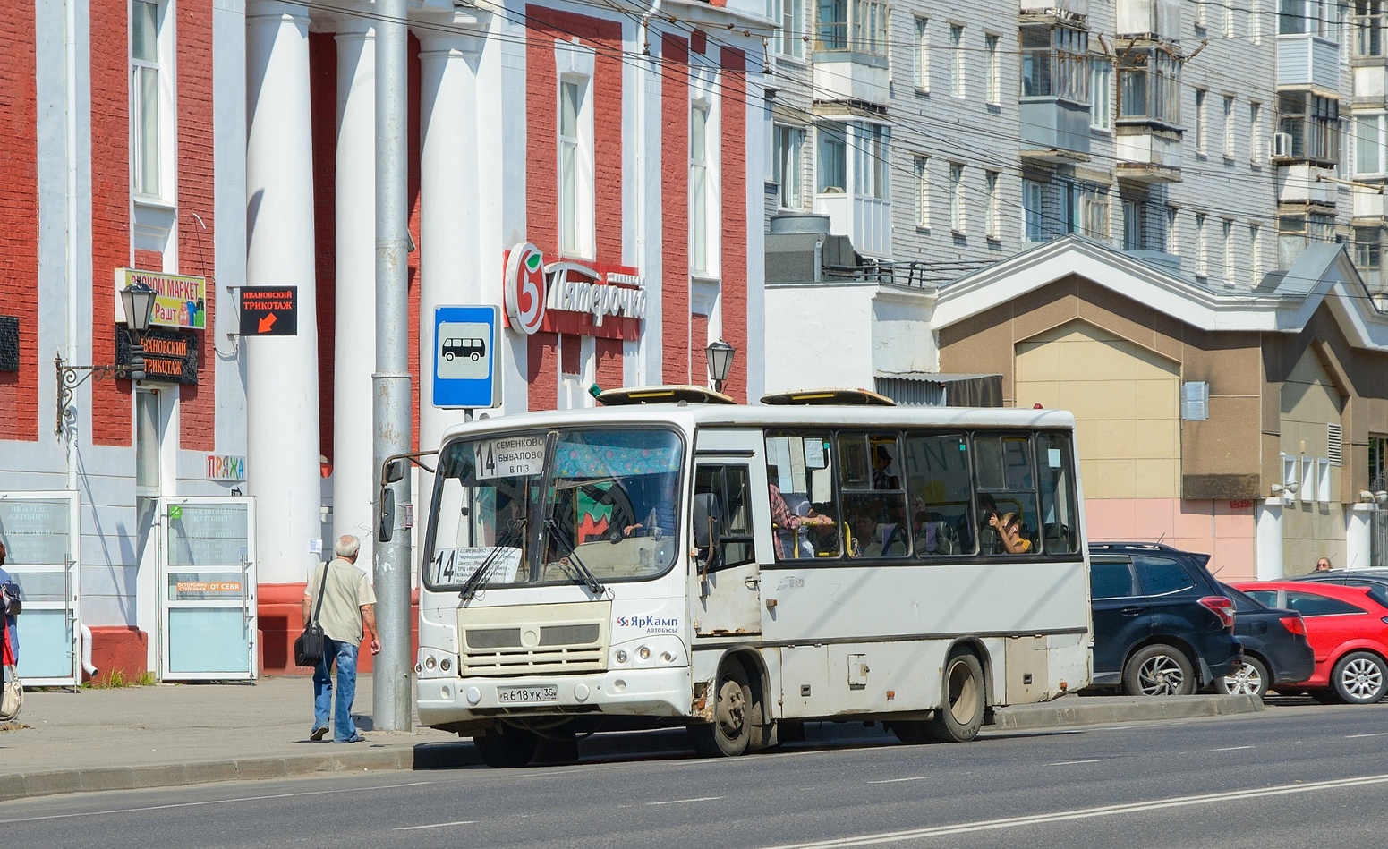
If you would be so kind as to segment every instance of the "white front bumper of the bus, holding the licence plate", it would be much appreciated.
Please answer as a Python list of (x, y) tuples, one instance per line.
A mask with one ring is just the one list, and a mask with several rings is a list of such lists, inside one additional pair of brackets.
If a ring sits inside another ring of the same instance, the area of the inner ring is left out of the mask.
[(620, 669), (507, 678), (419, 677), (419, 723), (444, 727), (502, 717), (690, 716), (690, 667)]

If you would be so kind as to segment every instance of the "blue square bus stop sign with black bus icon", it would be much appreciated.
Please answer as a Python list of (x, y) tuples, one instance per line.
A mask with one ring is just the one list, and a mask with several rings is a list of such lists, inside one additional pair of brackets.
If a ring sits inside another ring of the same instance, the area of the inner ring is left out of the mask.
[(434, 309), (434, 406), (472, 409), (497, 405), (500, 323), (500, 307)]

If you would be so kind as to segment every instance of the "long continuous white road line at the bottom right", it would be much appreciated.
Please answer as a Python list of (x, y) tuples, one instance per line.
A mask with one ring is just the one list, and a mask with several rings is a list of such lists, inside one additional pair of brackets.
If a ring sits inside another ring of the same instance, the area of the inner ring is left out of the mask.
[(1192, 805), (1214, 805), (1219, 802), (1233, 802), (1239, 799), (1256, 799), (1262, 796), (1283, 796), (1287, 794), (1307, 794), (1321, 789), (1339, 789), (1345, 787), (1359, 787), (1367, 784), (1388, 784), (1388, 775), (1364, 775), (1360, 778), (1338, 778), (1334, 781), (1312, 781), (1305, 784), (1283, 784), (1278, 787), (1264, 787), (1259, 789), (1226, 791), (1221, 794), (1202, 794), (1198, 796), (1176, 796), (1171, 799), (1153, 799), (1151, 802), (1130, 802), (1126, 805), (1105, 805), (1099, 807), (1081, 807), (1076, 810), (1060, 810), (1047, 814), (1033, 814), (1027, 817), (1006, 817), (1001, 820), (980, 820), (977, 823), (958, 823), (955, 825), (936, 825), (931, 828), (912, 828), (908, 831), (883, 831), (879, 834), (862, 834), (856, 837), (841, 837), (829, 841), (815, 841), (809, 843), (783, 843), (768, 846), (766, 849), (830, 849), (836, 846), (869, 846), (874, 843), (895, 843), (930, 837), (945, 837), (951, 834), (966, 834), (973, 831), (997, 831), (999, 828), (1016, 828), (1019, 825), (1037, 825), (1042, 823), (1065, 823), (1069, 820), (1088, 820), (1094, 817), (1112, 817), (1119, 814), (1140, 813), (1145, 810), (1162, 810), (1166, 807), (1190, 807)]

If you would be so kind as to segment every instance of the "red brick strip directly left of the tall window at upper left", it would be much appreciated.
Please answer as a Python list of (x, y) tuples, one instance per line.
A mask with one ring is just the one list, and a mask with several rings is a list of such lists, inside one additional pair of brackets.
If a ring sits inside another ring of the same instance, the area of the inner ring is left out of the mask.
[[(130, 255), (130, 93), (126, 3), (92, 3), (92, 362), (115, 362), (114, 269)], [(79, 319), (81, 320), (81, 319)], [(130, 383), (93, 380), (92, 441), (130, 444)]]

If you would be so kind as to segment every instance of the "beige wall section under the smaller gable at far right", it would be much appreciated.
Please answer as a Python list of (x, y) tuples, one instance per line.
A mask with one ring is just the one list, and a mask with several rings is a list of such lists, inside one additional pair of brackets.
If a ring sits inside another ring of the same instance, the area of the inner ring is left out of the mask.
[[(1285, 480), (1296, 492), (1284, 498), (1283, 563), (1287, 574), (1310, 572), (1320, 556), (1344, 562), (1345, 508), (1342, 465), (1330, 463), (1330, 429), (1341, 424), (1344, 400), (1320, 357), (1306, 350), (1281, 388), (1281, 454)], [(1363, 563), (1360, 563), (1363, 566)]]

